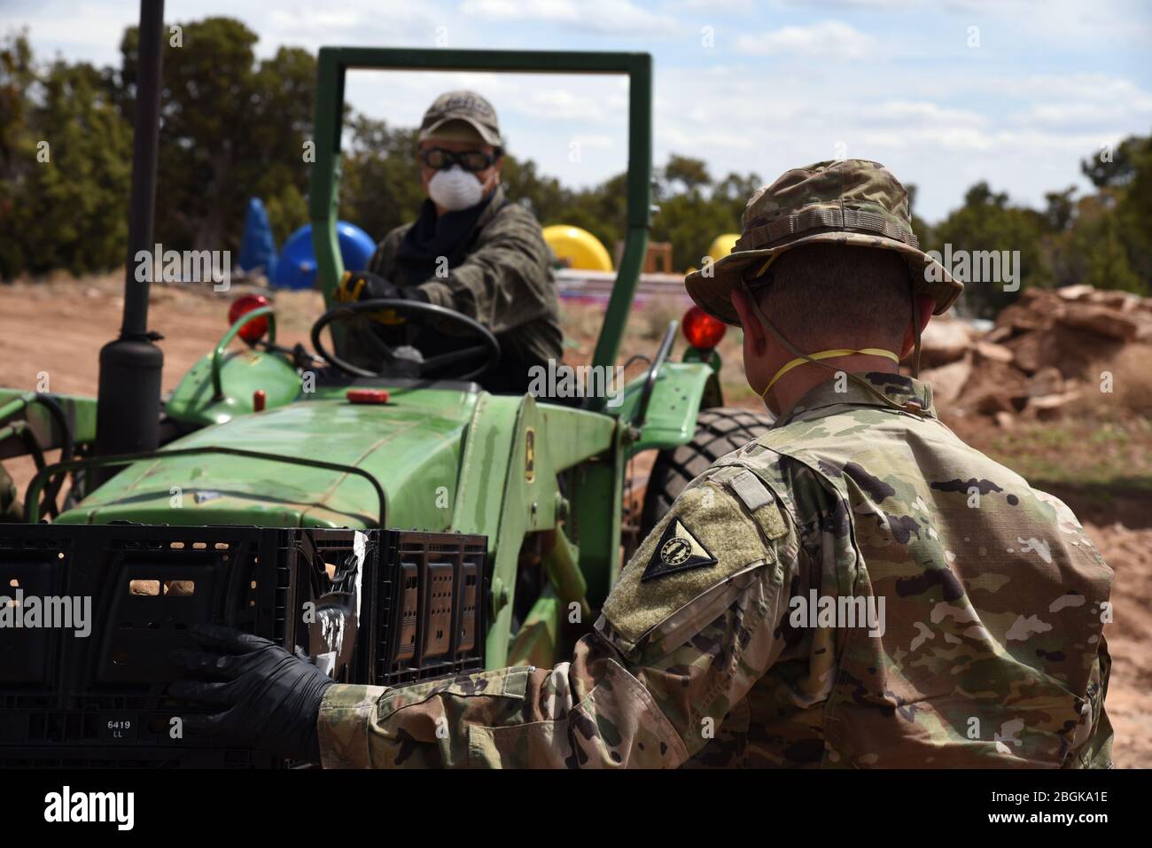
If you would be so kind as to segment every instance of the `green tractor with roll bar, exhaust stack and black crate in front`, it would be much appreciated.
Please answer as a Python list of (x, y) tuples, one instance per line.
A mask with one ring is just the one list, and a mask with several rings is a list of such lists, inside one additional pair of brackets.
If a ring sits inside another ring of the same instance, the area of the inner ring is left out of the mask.
[[(149, 25), (142, 45), (159, 32)], [(151, 243), (158, 100), (145, 71), (159, 58), (141, 61), (132, 247)], [(592, 626), (626, 556), (683, 485), (770, 425), (722, 408), (714, 350), (670, 358), (676, 321), (622, 396), (574, 406), (482, 389), (472, 378), (498, 349), (470, 318), (410, 302), (336, 303), (344, 75), (365, 68), (628, 75), (628, 235), (592, 362), (615, 364), (652, 213), (651, 56), (323, 48), (310, 203), (328, 310), (311, 338), (326, 365), (278, 346), (274, 308), (245, 302), (161, 402), (147, 285), (129, 273), (98, 401), (0, 389), (0, 456), (63, 452), (38, 462), (23, 521), (0, 523), (2, 591), (39, 599), (44, 613), (53, 599), (58, 613), (68, 599), (77, 610), (91, 601), (88, 635), (59, 621), (0, 629), (0, 763), (259, 764), (234, 743), (170, 733), (166, 652), (198, 621), (280, 639), (354, 682), (550, 666)], [(151, 151), (139, 138), (149, 126)], [(342, 331), (382, 308), (453, 325), (477, 344), (435, 363), (434, 377), (365, 372), (342, 358)], [(229, 349), (237, 335), (245, 349)], [(659, 454), (643, 514), (627, 516), (629, 460), (645, 450)]]

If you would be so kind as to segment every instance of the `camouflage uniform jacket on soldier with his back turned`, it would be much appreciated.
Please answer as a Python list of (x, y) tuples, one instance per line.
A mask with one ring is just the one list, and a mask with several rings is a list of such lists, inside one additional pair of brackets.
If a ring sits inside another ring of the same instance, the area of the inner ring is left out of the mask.
[(809, 392), (694, 480), (555, 668), (333, 686), (326, 767), (1111, 764), (1112, 570), (931, 389)]

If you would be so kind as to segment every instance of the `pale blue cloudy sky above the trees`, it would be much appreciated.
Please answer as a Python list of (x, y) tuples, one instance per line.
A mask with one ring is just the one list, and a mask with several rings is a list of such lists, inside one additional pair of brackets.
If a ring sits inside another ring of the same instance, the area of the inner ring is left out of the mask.
[[(119, 61), (132, 0), (0, 0), (41, 59)], [(169, 22), (237, 17), (280, 45), (628, 50), (655, 60), (655, 161), (765, 182), (840, 152), (919, 188), (937, 220), (980, 179), (1039, 206), (1078, 160), (1152, 131), (1146, 0), (168, 0)], [(187, 46), (187, 45), (185, 45)], [(510, 147), (570, 184), (626, 165), (613, 77), (354, 73), (359, 111), (414, 126), (447, 88), (485, 93)]]

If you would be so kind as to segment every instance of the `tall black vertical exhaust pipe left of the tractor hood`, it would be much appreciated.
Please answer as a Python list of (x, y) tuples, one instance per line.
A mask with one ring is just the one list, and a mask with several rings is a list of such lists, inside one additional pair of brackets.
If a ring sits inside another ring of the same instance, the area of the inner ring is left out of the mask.
[[(147, 330), (149, 283), (136, 280), (136, 255), (142, 250), (152, 252), (162, 51), (164, 0), (141, 0), (124, 317), (120, 338), (100, 350), (96, 410), (99, 455), (154, 450), (160, 441), (164, 353), (153, 343), (159, 334)], [(115, 470), (103, 471), (97, 483), (104, 483)]]

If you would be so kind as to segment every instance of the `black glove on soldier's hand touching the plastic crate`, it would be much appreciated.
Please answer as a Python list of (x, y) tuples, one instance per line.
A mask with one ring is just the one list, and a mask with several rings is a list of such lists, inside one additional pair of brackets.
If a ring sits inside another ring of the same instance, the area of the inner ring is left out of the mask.
[(313, 763), (320, 759), (316, 721), (332, 679), (268, 639), (219, 624), (190, 630), (206, 651), (173, 651), (172, 661), (203, 680), (168, 687), (177, 698), (223, 707), (187, 716), (184, 727), (250, 740), (262, 750)]

